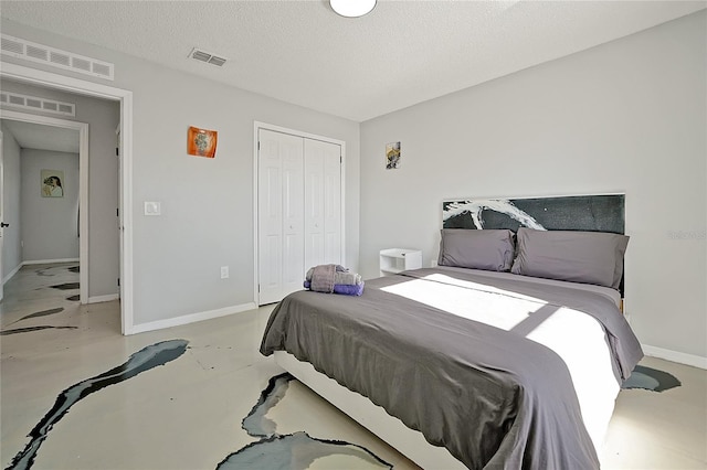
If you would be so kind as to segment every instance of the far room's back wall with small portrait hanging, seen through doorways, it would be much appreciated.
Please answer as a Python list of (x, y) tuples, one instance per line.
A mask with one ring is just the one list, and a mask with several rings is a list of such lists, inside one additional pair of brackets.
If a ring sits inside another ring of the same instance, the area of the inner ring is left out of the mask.
[[(23, 260), (78, 259), (78, 153), (22, 149), (20, 165)], [(42, 197), (42, 170), (64, 173), (63, 197)]]

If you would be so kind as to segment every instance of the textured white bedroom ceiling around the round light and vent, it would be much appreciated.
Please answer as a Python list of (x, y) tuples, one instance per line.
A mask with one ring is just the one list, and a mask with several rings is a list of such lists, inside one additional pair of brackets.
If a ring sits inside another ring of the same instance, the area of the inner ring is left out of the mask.
[[(1, 15), (363, 121), (706, 7), (379, 0), (368, 15), (346, 19), (326, 0), (2, 0)], [(219, 68), (190, 60), (194, 46), (229, 62)]]

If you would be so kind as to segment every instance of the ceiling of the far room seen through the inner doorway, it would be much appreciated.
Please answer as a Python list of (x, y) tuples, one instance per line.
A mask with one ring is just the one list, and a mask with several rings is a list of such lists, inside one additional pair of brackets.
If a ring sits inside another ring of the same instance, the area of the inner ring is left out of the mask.
[(23, 149), (78, 153), (78, 131), (75, 129), (10, 119), (2, 119), (2, 125)]

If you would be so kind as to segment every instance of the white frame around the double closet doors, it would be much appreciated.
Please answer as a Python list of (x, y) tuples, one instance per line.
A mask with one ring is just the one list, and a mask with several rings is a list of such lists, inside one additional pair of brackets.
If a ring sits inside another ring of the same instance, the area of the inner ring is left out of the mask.
[[(258, 247), (258, 169), (260, 162), (257, 159), (257, 135), (261, 129), (272, 130), (281, 133), (288, 133), (291, 136), (302, 137), (305, 139), (320, 140), (323, 142), (335, 143), (341, 146), (341, 265), (346, 266), (346, 142), (344, 140), (334, 139), (330, 137), (318, 136), (316, 133), (309, 133), (302, 130), (289, 129), (287, 127), (276, 126), (274, 124), (267, 124), (262, 121), (253, 121), (253, 302), (260, 307), (260, 295), (257, 284), (260, 281), (260, 247)], [(303, 279), (304, 281), (304, 279)]]

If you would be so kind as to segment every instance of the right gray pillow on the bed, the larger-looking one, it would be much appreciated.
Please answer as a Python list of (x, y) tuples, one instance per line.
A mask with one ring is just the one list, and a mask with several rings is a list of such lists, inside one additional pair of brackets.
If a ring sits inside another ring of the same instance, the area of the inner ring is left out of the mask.
[(605, 232), (518, 229), (511, 273), (619, 288), (626, 235)]

